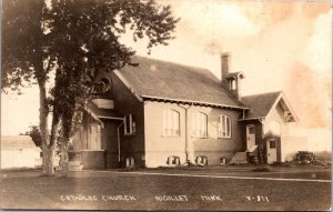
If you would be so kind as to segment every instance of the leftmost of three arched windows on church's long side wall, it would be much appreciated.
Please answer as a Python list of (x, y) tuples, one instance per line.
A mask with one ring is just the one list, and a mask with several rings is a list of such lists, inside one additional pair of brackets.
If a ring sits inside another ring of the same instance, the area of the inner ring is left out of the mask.
[(163, 135), (165, 137), (179, 137), (179, 112), (174, 110), (163, 111)]

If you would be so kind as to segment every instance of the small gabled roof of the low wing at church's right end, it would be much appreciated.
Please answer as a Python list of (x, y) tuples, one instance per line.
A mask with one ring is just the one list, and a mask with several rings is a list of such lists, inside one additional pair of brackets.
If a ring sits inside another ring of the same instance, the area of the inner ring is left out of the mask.
[(279, 102), (282, 104), (285, 115), (290, 115), (292, 121), (297, 120), (295, 112), (282, 91), (243, 97), (242, 102), (250, 108), (243, 120), (263, 119), (270, 114)]

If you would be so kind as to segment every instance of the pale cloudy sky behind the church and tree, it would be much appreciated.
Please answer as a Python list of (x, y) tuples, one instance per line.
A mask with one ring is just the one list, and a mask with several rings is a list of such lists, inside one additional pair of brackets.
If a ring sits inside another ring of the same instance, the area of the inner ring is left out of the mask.
[[(220, 78), (220, 54), (231, 53), (231, 71), (242, 71), (242, 93), (282, 90), (300, 118), (296, 133), (316, 145), (332, 138), (332, 1), (160, 0), (181, 18), (175, 39), (147, 54), (147, 42), (122, 42), (137, 53), (206, 68)], [(38, 124), (38, 90), (1, 94), (1, 133)], [(316, 138), (314, 138), (314, 135)], [(317, 138), (320, 137), (320, 138)], [(331, 147), (331, 144), (330, 144)]]

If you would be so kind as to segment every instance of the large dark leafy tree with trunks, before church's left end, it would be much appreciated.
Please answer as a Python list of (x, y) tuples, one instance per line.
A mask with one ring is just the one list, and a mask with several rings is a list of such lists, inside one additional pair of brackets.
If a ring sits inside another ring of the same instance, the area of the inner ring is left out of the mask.
[[(131, 63), (135, 53), (120, 43), (124, 33), (148, 38), (148, 51), (172, 39), (178, 19), (154, 0), (6, 0), (2, 19), (2, 91), (21, 92), (37, 82), (44, 174), (53, 174), (60, 141), (62, 170), (67, 148), (101, 74)], [(53, 87), (47, 91), (47, 82)], [(48, 117), (52, 114), (49, 135)]]

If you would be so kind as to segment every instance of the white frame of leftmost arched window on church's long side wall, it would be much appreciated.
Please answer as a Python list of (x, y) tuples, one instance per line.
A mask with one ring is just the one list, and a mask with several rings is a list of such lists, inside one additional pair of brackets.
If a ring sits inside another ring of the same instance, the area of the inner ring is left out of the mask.
[[(176, 122), (174, 123), (173, 121), (173, 114), (176, 114)], [(163, 110), (162, 112), (162, 135), (163, 137), (180, 137), (181, 135), (181, 132), (180, 132), (180, 129), (181, 129), (181, 125), (180, 125), (180, 112), (176, 111), (176, 110), (173, 110), (173, 109), (165, 109)], [(169, 123), (168, 121), (169, 120), (169, 115), (171, 115), (171, 123)], [(168, 127), (171, 125), (171, 133), (168, 133), (169, 129)], [(173, 129), (173, 127), (178, 125), (178, 129)]]

